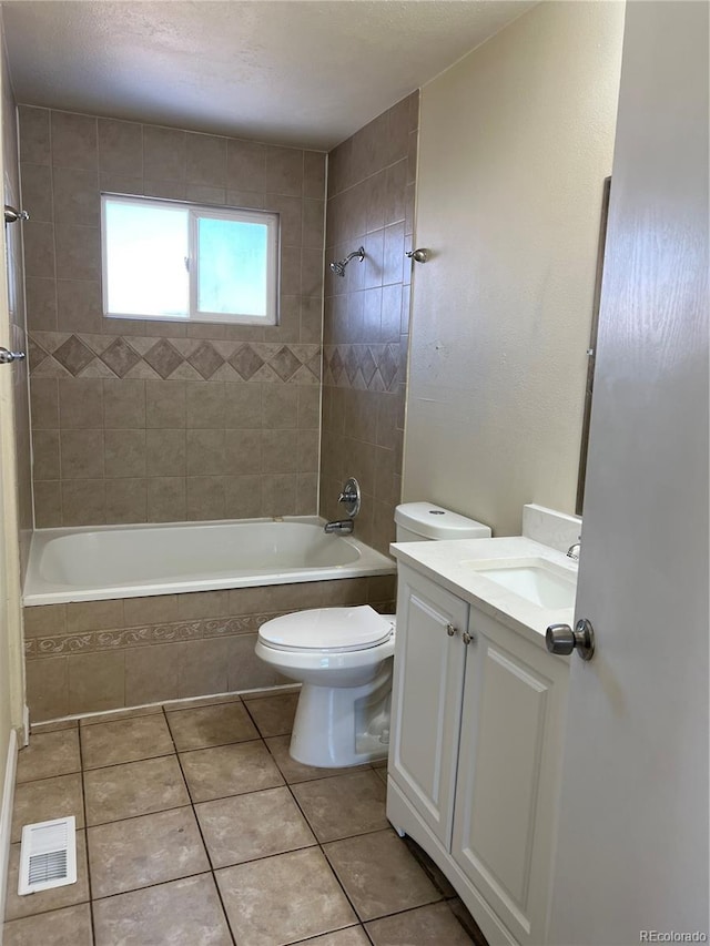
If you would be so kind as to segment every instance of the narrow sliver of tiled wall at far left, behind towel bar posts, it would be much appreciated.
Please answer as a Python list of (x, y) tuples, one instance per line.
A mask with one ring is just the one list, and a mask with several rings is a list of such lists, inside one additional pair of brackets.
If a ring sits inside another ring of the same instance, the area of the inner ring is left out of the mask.
[[(7, 59), (2, 58), (6, 70), (2, 81), (2, 148), (4, 165), (4, 203), (20, 210), (20, 167), (18, 162), (17, 106), (12, 96), (12, 85), (7, 73)], [(27, 224), (13, 223), (4, 228), (7, 245), (8, 302), (10, 309), (10, 338), (2, 344), (14, 352), (27, 352), (27, 318), (24, 311), (22, 272), (22, 231)], [(21, 578), (24, 570), (32, 538), (32, 474), (30, 467), (30, 408), (28, 396), (28, 364), (16, 362), (2, 370), (12, 372), (12, 396), (14, 404), (14, 437), (18, 471), (18, 523), (20, 531)]]

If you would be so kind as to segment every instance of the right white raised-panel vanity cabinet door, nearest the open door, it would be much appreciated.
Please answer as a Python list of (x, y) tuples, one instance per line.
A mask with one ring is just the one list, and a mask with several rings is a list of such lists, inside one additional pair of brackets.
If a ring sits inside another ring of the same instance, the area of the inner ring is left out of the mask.
[(521, 944), (546, 942), (567, 667), (470, 610), (452, 854)]

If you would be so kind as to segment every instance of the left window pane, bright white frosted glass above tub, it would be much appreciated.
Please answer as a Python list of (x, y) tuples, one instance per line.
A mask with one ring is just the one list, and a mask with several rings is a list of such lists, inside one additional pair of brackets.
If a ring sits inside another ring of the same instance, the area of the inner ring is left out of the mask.
[(105, 202), (108, 312), (186, 318), (189, 213)]

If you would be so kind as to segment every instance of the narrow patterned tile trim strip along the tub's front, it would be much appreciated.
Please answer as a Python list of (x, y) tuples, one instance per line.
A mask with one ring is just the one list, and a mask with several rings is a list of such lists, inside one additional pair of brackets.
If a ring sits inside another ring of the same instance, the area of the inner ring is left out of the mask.
[[(267, 614), (245, 614), (232, 618), (207, 618), (200, 621), (178, 621), (169, 624), (146, 624), (82, 634), (53, 634), (26, 642), (28, 660), (69, 653), (91, 653), (101, 650), (125, 650), (160, 643), (200, 640), (202, 638), (253, 634), (261, 625), (285, 611)], [(29, 644), (29, 647), (28, 647)]]

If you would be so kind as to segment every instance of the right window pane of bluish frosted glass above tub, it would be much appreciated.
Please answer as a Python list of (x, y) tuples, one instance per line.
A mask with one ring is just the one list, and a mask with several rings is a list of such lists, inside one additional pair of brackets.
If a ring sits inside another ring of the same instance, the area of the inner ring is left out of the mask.
[(268, 227), (211, 217), (197, 226), (197, 309), (264, 317)]

